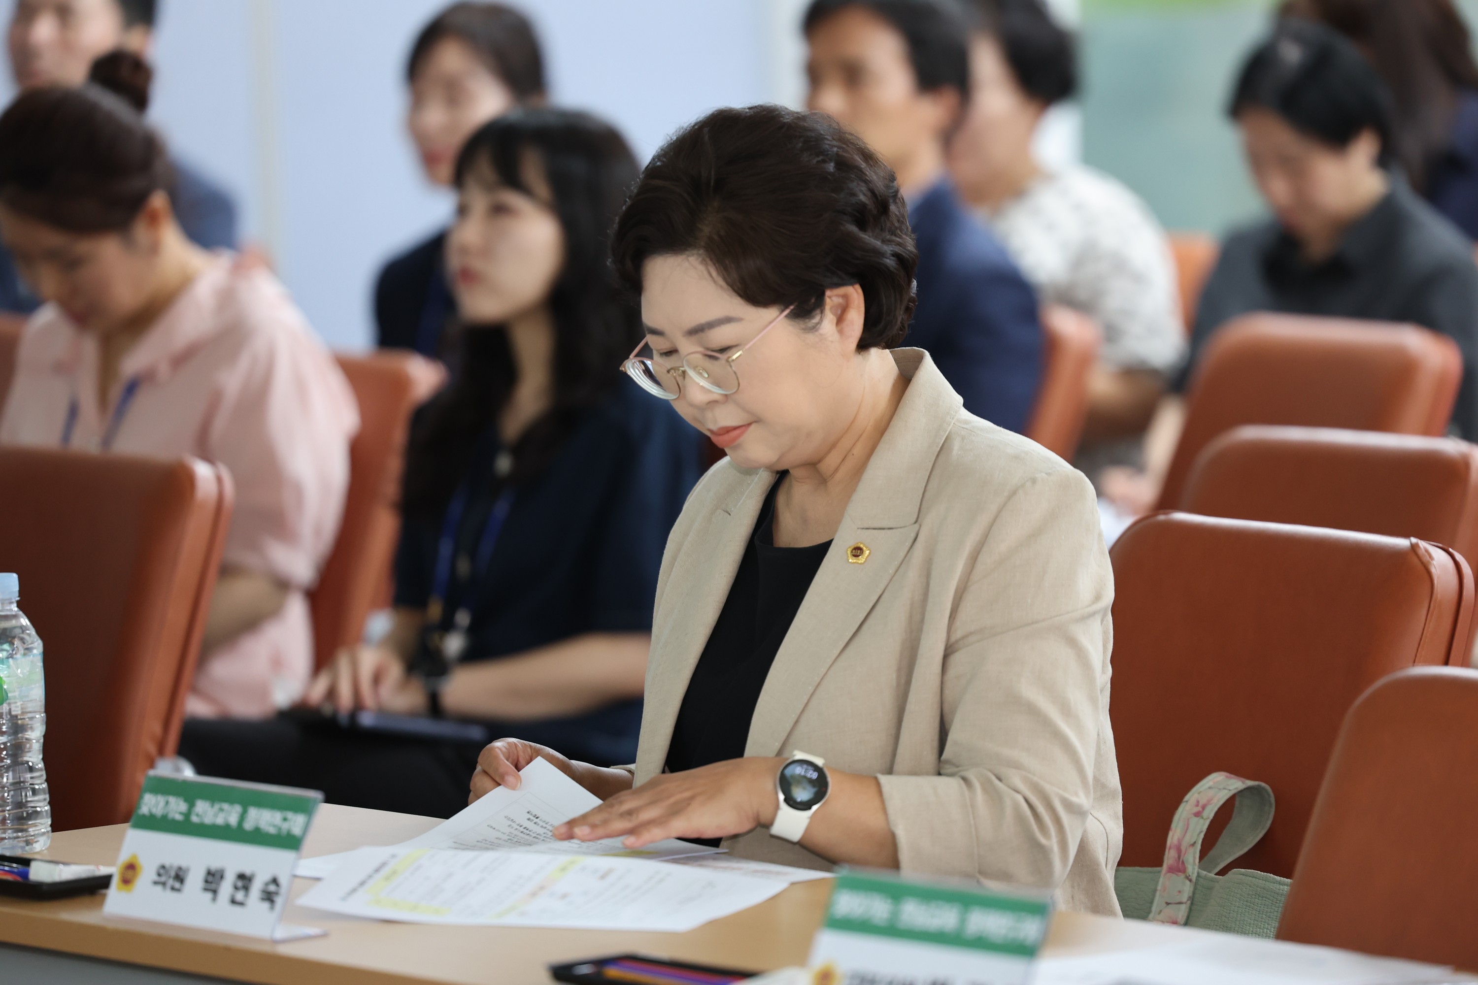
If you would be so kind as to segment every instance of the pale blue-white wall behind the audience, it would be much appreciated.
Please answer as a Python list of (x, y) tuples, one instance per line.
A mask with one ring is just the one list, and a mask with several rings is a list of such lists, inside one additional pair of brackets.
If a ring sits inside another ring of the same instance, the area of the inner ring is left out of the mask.
[[(245, 238), (338, 349), (370, 346), (375, 272), (451, 210), (421, 179), (401, 123), (406, 50), (445, 1), (161, 0), (152, 120), (235, 195)], [(520, 6), (544, 41), (554, 100), (606, 117), (646, 159), (715, 106), (798, 105), (806, 1)], [(0, 22), (12, 4), (0, 0)], [(1076, 0), (1060, 6), (1076, 13)], [(1052, 158), (1076, 157), (1072, 112), (1046, 134)]]

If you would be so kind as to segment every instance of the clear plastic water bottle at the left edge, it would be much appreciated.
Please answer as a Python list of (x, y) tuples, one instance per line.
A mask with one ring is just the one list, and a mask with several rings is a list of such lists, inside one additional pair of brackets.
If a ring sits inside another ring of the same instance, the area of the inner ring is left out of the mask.
[(52, 843), (52, 803), (41, 765), (46, 679), (41, 638), (16, 607), (21, 579), (0, 574), (0, 852)]

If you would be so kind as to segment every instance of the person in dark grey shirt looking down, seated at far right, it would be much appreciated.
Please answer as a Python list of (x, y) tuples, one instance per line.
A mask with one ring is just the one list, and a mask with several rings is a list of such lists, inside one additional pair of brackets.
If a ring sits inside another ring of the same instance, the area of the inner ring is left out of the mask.
[[(1182, 393), (1218, 328), (1249, 312), (1411, 322), (1463, 353), (1451, 430), (1478, 437), (1478, 267), (1472, 244), (1392, 170), (1391, 97), (1335, 31), (1281, 21), (1247, 59), (1231, 99), (1247, 164), (1273, 219), (1222, 244), (1196, 315)], [(1111, 470), (1104, 495), (1148, 509), (1184, 422), (1166, 397), (1145, 439), (1142, 473)]]

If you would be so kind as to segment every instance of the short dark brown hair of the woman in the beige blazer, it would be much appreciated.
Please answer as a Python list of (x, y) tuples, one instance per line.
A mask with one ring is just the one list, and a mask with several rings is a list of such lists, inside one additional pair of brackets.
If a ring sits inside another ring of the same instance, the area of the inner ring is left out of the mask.
[(755, 307), (806, 320), (829, 288), (862, 286), (859, 349), (891, 349), (913, 315), (918, 250), (893, 171), (828, 115), (715, 109), (641, 173), (612, 241), (616, 275), (641, 291), (652, 257), (695, 255)]

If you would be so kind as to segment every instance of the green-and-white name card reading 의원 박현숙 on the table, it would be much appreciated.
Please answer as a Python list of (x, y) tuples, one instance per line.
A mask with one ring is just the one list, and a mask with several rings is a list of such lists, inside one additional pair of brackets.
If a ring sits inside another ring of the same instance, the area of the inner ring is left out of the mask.
[(324, 794), (151, 772), (102, 911), (273, 941), (303, 836)]

